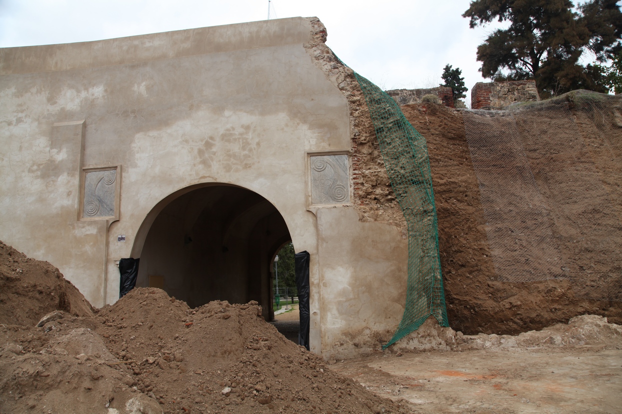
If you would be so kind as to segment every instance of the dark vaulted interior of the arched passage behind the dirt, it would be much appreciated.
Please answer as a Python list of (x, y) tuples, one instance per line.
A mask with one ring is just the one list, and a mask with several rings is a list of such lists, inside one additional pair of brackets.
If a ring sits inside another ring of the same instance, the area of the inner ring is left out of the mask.
[(262, 196), (238, 186), (203, 186), (157, 215), (136, 285), (162, 288), (192, 308), (256, 300), (271, 320), (272, 259), (290, 239), (281, 214)]

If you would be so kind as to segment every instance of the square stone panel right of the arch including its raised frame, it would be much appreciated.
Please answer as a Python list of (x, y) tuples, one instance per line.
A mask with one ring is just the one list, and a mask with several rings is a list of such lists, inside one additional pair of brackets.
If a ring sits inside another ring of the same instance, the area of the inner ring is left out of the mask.
[[(351, 170), (350, 150), (308, 151), (307, 208), (351, 206)], [(322, 178), (332, 183), (327, 191), (318, 192), (314, 180)]]

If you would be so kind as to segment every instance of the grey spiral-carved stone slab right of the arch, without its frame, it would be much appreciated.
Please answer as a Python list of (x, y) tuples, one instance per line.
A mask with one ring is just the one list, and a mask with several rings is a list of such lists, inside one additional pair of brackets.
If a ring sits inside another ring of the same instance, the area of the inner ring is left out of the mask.
[(312, 155), (311, 202), (313, 205), (350, 203), (348, 155)]

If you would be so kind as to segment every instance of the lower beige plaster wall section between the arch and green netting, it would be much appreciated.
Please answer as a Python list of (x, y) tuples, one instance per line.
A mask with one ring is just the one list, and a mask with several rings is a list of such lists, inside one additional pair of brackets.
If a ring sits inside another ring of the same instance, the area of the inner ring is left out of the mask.
[(353, 207), (320, 209), (317, 220), (322, 351), (378, 349), (404, 313), (408, 243), (394, 226), (360, 223)]

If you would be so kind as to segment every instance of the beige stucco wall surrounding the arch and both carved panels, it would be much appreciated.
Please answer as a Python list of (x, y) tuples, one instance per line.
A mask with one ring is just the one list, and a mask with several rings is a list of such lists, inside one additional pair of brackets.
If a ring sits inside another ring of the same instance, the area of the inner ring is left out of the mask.
[[(276, 206), (311, 254), (312, 351), (394, 328), (406, 241), (347, 206), (307, 208), (307, 152), (350, 151), (348, 103), (303, 47), (310, 30), (292, 18), (0, 49), (0, 239), (103, 306), (118, 298), (115, 260), (140, 252), (160, 201), (230, 183)], [(81, 219), (81, 170), (114, 165), (118, 219)], [(344, 238), (359, 241), (340, 255)], [(370, 303), (336, 308), (343, 285), (348, 303)]]

